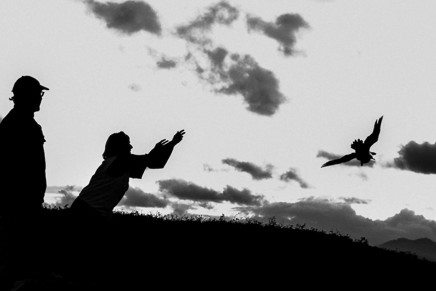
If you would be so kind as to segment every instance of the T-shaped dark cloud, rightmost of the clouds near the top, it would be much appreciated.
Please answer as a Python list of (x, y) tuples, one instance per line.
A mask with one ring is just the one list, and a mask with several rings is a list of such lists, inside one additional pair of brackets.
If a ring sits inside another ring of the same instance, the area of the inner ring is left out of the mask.
[(282, 14), (276, 22), (265, 22), (259, 17), (247, 16), (248, 31), (254, 30), (274, 38), (280, 44), (279, 50), (285, 56), (295, 53), (295, 33), (300, 28), (309, 28), (309, 24), (298, 14)]

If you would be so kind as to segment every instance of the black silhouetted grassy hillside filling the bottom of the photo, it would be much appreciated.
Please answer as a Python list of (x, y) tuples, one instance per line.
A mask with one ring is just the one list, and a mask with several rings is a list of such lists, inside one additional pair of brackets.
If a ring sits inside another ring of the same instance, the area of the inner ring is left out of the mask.
[(262, 224), (117, 213), (108, 227), (79, 231), (68, 209), (45, 209), (44, 217), (47, 262), (63, 277), (34, 282), (46, 289), (394, 287), (430, 282), (436, 271), (435, 263), (370, 246), (365, 238), (274, 219)]

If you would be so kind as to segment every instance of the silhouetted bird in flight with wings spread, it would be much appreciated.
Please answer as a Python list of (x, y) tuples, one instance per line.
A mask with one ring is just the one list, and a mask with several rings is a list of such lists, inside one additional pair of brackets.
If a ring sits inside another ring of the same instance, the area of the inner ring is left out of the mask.
[(346, 154), (341, 158), (330, 160), (323, 164), (321, 168), (327, 167), (328, 165), (332, 164), (338, 164), (342, 162), (351, 161), (352, 159), (356, 158), (360, 161), (360, 165), (362, 166), (364, 163), (369, 162), (370, 160), (375, 160), (373, 155), (375, 155), (375, 152), (369, 151), (371, 146), (375, 144), (375, 142), (378, 140), (378, 135), (380, 134), (380, 126), (381, 126), (381, 120), (383, 119), (383, 116), (378, 118), (378, 120), (375, 120), (374, 123), (374, 130), (372, 131), (372, 134), (370, 134), (365, 141), (363, 142), (361, 139), (354, 140), (354, 142), (351, 144), (351, 148), (355, 150), (354, 153)]

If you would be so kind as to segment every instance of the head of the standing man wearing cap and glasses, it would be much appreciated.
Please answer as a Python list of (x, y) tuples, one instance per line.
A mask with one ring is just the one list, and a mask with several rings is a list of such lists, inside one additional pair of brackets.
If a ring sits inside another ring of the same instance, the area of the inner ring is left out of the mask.
[(14, 97), (10, 100), (14, 101), (14, 104), (20, 108), (36, 112), (39, 111), (44, 95), (42, 90), (49, 90), (49, 88), (40, 85), (34, 77), (22, 76), (15, 82), (12, 88)]

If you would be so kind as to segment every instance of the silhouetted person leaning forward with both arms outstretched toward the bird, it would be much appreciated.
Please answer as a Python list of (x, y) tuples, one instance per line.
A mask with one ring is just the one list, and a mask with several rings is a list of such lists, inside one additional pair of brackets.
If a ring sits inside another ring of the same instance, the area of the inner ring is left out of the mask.
[(90, 219), (111, 220), (112, 210), (128, 189), (129, 178), (141, 179), (146, 168), (162, 169), (175, 145), (180, 143), (184, 130), (177, 132), (171, 141), (161, 140), (144, 155), (131, 153), (129, 137), (123, 133), (109, 136), (103, 162), (71, 205), (71, 210), (79, 216)]

